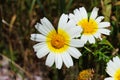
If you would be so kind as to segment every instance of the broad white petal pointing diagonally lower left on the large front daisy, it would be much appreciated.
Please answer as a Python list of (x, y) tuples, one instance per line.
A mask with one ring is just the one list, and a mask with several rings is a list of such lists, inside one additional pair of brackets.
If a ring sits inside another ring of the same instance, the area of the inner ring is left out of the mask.
[(36, 53), (38, 58), (42, 58), (45, 55), (47, 55), (50, 51), (48, 50), (47, 46), (43, 46), (41, 49), (39, 49)]

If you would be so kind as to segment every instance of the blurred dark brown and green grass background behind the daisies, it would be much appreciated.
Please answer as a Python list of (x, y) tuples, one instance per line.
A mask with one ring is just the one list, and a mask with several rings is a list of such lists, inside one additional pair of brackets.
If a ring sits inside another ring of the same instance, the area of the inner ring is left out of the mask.
[[(46, 57), (38, 59), (32, 48), (35, 42), (30, 40), (30, 35), (38, 32), (34, 25), (47, 17), (56, 27), (62, 13), (69, 14), (81, 6), (89, 13), (94, 7), (99, 8), (99, 16), (105, 16), (104, 21), (111, 23), (110, 36), (80, 49), (83, 56), (74, 59), (74, 66), (69, 69), (45, 66)], [(38, 80), (77, 80), (80, 71), (90, 68), (94, 70), (92, 80), (103, 80), (108, 76), (106, 63), (113, 56), (119, 56), (119, 49), (119, 0), (0, 0), (0, 60), (8, 60), (10, 74), (20, 74), (21, 80), (37, 80), (34, 75), (42, 78)], [(14, 79), (11, 75), (10, 78)]]

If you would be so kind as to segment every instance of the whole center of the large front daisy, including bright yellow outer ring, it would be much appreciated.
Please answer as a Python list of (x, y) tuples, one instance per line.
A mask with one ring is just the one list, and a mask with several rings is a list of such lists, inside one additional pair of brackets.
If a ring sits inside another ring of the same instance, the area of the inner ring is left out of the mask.
[(70, 36), (62, 29), (59, 29), (58, 32), (53, 30), (46, 36), (46, 43), (50, 51), (62, 53), (69, 48)]

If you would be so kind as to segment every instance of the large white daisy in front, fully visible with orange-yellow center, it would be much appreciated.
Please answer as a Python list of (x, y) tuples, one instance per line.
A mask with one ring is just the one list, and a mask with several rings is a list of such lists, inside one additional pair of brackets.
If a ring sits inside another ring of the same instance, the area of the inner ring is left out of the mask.
[(31, 34), (31, 40), (39, 42), (33, 46), (37, 57), (42, 58), (48, 54), (45, 64), (49, 67), (54, 62), (58, 69), (61, 69), (63, 63), (67, 68), (73, 66), (71, 56), (76, 59), (81, 56), (75, 47), (84, 46), (81, 40), (75, 39), (82, 32), (80, 27), (75, 26), (73, 21), (68, 21), (68, 15), (65, 14), (60, 17), (57, 30), (47, 18), (41, 19), (41, 24), (35, 25), (41, 34)]

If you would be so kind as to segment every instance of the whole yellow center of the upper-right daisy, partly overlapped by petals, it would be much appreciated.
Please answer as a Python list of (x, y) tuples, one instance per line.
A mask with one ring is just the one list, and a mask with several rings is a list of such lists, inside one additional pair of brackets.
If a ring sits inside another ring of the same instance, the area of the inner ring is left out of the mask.
[(98, 24), (93, 19), (82, 19), (77, 23), (78, 26), (83, 28), (83, 34), (91, 35), (95, 34), (98, 30)]

